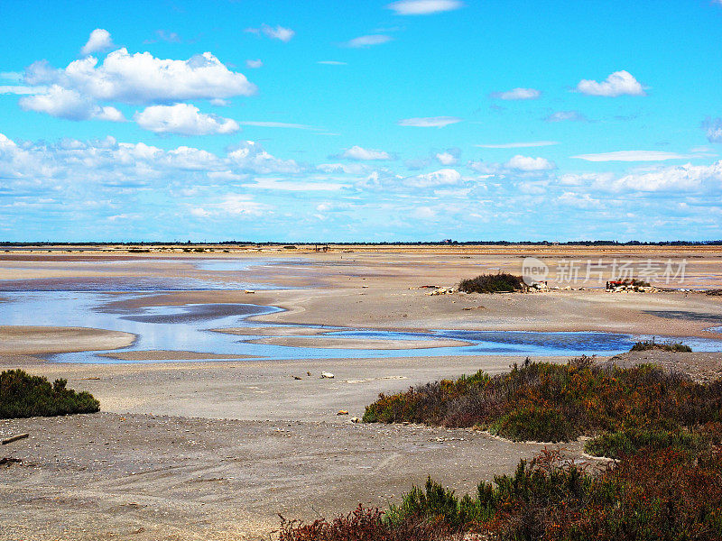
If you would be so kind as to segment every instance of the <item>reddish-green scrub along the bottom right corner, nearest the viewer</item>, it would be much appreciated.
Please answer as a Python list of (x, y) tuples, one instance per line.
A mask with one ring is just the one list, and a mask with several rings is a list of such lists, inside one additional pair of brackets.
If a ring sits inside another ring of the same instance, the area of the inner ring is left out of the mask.
[(514, 475), (459, 498), (413, 487), (384, 514), (356, 509), (333, 522), (285, 522), (280, 541), (722, 539), (722, 456), (643, 449), (600, 472), (545, 450)]

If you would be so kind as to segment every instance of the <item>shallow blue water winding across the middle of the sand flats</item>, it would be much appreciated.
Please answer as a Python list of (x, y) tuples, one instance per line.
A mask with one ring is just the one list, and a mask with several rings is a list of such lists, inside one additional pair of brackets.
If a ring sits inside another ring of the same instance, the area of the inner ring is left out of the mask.
[[(523, 331), (468, 331), (438, 329), (430, 333), (391, 332), (369, 329), (308, 326), (322, 328), (327, 337), (348, 337), (380, 340), (430, 340), (450, 338), (470, 345), (429, 347), (421, 349), (328, 349), (274, 344), (252, 344), (249, 341), (265, 335), (228, 335), (210, 331), (223, 327), (247, 327), (252, 333), (250, 316), (269, 314), (277, 307), (253, 304), (199, 304), (180, 307), (143, 307), (108, 309), (110, 302), (137, 298), (142, 292), (109, 293), (97, 291), (14, 291), (3, 294), (0, 303), (0, 325), (7, 326), (84, 326), (124, 331), (136, 336), (134, 344), (118, 350), (60, 353), (51, 355), (53, 362), (119, 363), (98, 353), (167, 350), (199, 353), (252, 355), (266, 360), (425, 357), (458, 355), (609, 355), (628, 351), (640, 339), (650, 336), (616, 333), (568, 332), (539, 333)], [(722, 341), (680, 337), (695, 351), (722, 351)], [(218, 360), (218, 359), (217, 359)], [(172, 362), (173, 360), (169, 360)], [(238, 361), (236, 359), (236, 361)], [(137, 361), (142, 362), (142, 361)]]

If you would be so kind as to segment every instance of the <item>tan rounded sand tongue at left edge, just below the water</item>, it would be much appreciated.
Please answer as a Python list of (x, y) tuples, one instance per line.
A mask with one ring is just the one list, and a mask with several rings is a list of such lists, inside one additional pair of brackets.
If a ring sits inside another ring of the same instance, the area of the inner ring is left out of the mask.
[(0, 326), (0, 354), (88, 352), (127, 347), (135, 335), (85, 327)]

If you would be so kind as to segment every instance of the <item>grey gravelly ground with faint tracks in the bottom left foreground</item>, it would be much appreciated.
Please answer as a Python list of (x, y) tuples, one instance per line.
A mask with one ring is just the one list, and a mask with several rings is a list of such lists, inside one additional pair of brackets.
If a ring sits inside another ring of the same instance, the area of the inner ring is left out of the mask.
[(32, 433), (12, 449), (23, 463), (0, 468), (3, 539), (267, 539), (278, 512), (384, 507), (427, 474), (472, 491), (542, 448), (419, 426), (104, 413), (0, 421), (2, 435), (20, 430)]

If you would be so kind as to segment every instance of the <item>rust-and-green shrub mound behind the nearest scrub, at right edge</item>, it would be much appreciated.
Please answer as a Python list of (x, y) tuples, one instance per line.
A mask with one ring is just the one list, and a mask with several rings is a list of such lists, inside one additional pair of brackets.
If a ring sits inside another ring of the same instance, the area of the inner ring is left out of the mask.
[(381, 394), (365, 422), (477, 426), (514, 440), (568, 441), (624, 430), (679, 430), (722, 420), (722, 381), (697, 383), (651, 364), (524, 362), (490, 377)]

